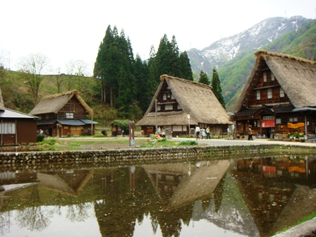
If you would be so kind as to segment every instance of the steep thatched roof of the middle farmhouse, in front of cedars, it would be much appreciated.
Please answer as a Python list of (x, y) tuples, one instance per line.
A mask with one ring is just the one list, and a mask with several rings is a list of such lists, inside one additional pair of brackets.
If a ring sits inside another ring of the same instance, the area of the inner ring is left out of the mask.
[(190, 124), (231, 124), (229, 115), (215, 97), (212, 87), (169, 75), (162, 75), (160, 78), (162, 81), (152, 98), (150, 107), (136, 125), (150, 126), (155, 124), (155, 113), (150, 111), (164, 82), (168, 84), (182, 111), (157, 113), (157, 124), (159, 126), (188, 124), (188, 114), (190, 114)]

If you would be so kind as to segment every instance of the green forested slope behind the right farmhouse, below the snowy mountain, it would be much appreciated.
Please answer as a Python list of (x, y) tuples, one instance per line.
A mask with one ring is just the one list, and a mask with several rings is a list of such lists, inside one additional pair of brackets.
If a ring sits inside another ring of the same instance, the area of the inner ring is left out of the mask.
[[(304, 59), (316, 59), (316, 20), (303, 25), (297, 31), (288, 32), (279, 37), (271, 44), (262, 49), (275, 51), (284, 54), (291, 54)], [(234, 104), (240, 95), (241, 89), (245, 85), (248, 76), (255, 63), (255, 51), (245, 51), (237, 55), (235, 59), (219, 69), (219, 78), (222, 83), (222, 90), (226, 102), (226, 110), (232, 111)]]

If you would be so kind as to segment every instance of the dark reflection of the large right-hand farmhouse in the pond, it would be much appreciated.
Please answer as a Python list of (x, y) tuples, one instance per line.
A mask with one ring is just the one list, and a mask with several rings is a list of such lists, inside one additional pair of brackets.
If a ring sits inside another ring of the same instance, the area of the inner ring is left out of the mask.
[(316, 212), (316, 157), (238, 159), (232, 175), (238, 181), (260, 236), (272, 236), (279, 226), (296, 223)]

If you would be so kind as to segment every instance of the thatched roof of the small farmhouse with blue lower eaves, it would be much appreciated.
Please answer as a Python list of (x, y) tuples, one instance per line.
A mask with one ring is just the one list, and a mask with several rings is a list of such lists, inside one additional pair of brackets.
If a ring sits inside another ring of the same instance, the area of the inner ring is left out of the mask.
[(30, 111), (30, 114), (32, 115), (38, 115), (38, 114), (49, 114), (54, 113), (57, 114), (59, 110), (61, 110), (62, 107), (65, 106), (65, 104), (68, 103), (68, 101), (72, 97), (76, 97), (80, 104), (83, 105), (85, 110), (92, 115), (92, 109), (85, 103), (83, 98), (80, 97), (78, 90), (71, 90), (68, 92), (63, 92), (56, 95), (49, 95), (47, 97), (44, 97), (32, 111)]

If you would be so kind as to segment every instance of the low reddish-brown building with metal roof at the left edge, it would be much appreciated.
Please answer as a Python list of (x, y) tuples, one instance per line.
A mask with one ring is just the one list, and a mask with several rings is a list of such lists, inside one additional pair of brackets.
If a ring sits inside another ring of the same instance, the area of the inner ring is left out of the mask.
[(6, 109), (0, 90), (1, 145), (18, 145), (36, 142), (36, 116)]

